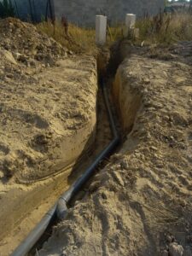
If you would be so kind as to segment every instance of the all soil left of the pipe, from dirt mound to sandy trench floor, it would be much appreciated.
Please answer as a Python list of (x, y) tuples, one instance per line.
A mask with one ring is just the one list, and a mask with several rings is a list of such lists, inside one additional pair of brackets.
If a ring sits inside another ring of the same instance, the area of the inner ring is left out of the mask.
[(0, 20), (0, 37), (0, 252), (9, 255), (22, 239), (5, 236), (39, 207), (17, 229), (26, 236), (94, 143), (97, 79), (93, 57), (74, 56), (32, 25)]

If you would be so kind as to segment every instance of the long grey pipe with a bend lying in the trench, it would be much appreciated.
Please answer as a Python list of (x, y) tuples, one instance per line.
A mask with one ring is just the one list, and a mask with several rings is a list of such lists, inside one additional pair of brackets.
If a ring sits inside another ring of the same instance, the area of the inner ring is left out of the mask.
[(79, 189), (81, 189), (84, 183), (91, 177), (96, 169), (96, 166), (98, 166), (101, 161), (113, 151), (113, 148), (118, 145), (119, 135), (114, 124), (113, 113), (111, 111), (110, 103), (108, 100), (108, 92), (104, 84), (102, 84), (102, 92), (108, 111), (110, 127), (113, 133), (113, 141), (102, 150), (102, 152), (96, 157), (96, 160), (94, 160), (90, 167), (84, 172), (84, 174), (79, 177), (79, 179), (75, 183), (73, 183), (72, 187), (68, 189), (63, 195), (61, 195), (59, 201), (55, 204), (55, 206), (51, 207), (49, 212), (44, 215), (44, 218), (41, 219), (41, 221), (37, 224), (34, 230), (29, 233), (26, 239), (22, 241), (20, 246), (15, 249), (15, 252), (11, 254), (12, 256), (25, 256), (26, 253), (28, 253), (32, 249), (32, 247), (36, 244), (39, 238), (44, 234), (44, 231), (47, 229), (51, 219), (55, 217), (55, 213), (60, 219), (66, 217), (67, 203), (73, 198), (73, 195), (76, 195), (77, 192), (79, 192)]

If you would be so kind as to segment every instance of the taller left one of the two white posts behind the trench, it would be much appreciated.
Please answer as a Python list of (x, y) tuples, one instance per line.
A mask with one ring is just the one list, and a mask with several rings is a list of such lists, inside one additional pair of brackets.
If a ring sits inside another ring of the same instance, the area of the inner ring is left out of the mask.
[(106, 43), (107, 16), (96, 15), (96, 44)]

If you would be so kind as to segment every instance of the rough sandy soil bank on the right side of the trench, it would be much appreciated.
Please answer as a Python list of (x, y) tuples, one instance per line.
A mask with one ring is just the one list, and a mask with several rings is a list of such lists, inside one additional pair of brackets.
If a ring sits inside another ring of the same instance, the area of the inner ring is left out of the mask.
[(192, 255), (191, 49), (120, 65), (113, 96), (131, 132), (38, 255)]

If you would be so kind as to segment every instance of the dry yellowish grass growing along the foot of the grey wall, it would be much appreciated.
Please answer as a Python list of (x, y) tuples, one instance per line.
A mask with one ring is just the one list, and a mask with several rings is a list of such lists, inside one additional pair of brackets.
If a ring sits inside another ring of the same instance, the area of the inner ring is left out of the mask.
[[(95, 29), (83, 28), (69, 24), (67, 29), (56, 21), (55, 26), (48, 21), (37, 25), (38, 30), (45, 32), (57, 42), (72, 50), (74, 53), (96, 54)], [(139, 28), (139, 38), (130, 34), (132, 43), (141, 44), (172, 44), (179, 40), (192, 40), (192, 14), (190, 10), (175, 14), (159, 14), (155, 17), (145, 17), (137, 20), (136, 27)], [(109, 27), (107, 34), (107, 46), (124, 38), (124, 25)]]

